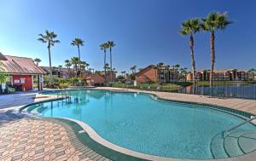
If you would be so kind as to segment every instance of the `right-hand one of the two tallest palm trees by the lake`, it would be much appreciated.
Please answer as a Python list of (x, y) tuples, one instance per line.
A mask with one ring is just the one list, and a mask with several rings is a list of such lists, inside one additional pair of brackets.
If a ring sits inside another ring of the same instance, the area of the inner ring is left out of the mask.
[(211, 66), (211, 73), (210, 73), (210, 87), (212, 87), (212, 77), (213, 77), (213, 70), (214, 70), (214, 64), (215, 64), (215, 31), (216, 30), (223, 30), (228, 25), (232, 23), (232, 21), (227, 20), (228, 14), (219, 14), (218, 12), (213, 12), (211, 14), (208, 14), (206, 19), (202, 19), (204, 22), (201, 24), (201, 27), (204, 31), (210, 32), (210, 47), (211, 47), (211, 60), (212, 60), (212, 66)]

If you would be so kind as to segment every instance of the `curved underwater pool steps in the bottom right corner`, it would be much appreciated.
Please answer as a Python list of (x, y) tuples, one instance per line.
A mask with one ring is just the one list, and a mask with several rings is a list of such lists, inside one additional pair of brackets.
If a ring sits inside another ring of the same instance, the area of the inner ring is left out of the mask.
[(256, 150), (256, 131), (236, 130), (230, 134), (220, 133), (212, 138), (213, 158), (236, 157)]

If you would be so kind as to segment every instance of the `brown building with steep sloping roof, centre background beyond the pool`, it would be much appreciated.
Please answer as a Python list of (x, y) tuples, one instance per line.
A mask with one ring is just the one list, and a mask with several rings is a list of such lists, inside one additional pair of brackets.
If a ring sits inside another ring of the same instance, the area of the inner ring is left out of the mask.
[(137, 83), (172, 83), (177, 82), (177, 69), (172, 69), (170, 66), (154, 66), (150, 65), (135, 75)]

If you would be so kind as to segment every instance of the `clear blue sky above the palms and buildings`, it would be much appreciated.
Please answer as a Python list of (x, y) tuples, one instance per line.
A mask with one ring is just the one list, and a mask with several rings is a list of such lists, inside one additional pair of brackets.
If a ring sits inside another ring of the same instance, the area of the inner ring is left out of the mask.
[[(0, 0), (0, 52), (40, 58), (48, 66), (46, 45), (37, 41), (45, 29), (58, 35), (54, 66), (77, 56), (70, 45), (84, 39), (82, 60), (102, 70), (99, 44), (113, 40), (113, 67), (128, 71), (164, 62), (190, 68), (189, 37), (177, 31), (183, 20), (211, 11), (229, 13), (234, 24), (216, 33), (217, 68), (256, 68), (256, 1), (254, 0)], [(195, 36), (196, 68), (210, 67), (209, 33)]]

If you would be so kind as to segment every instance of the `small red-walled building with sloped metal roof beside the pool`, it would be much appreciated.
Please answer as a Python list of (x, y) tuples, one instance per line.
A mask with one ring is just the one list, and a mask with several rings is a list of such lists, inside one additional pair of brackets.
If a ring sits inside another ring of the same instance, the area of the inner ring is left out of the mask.
[(33, 89), (33, 78), (38, 77), (38, 89), (43, 87), (43, 75), (46, 74), (42, 68), (37, 66), (31, 58), (0, 55), (0, 69), (9, 75), (8, 85), (15, 90)]

